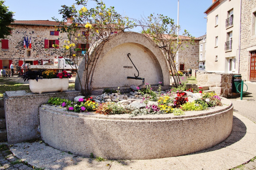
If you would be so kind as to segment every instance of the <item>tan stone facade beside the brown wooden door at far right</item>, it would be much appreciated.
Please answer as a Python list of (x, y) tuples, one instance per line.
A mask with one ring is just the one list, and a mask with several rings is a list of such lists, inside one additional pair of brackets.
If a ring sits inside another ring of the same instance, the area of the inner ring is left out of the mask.
[(256, 50), (255, 12), (256, 1), (242, 0), (239, 73), (246, 80), (250, 79), (251, 51)]

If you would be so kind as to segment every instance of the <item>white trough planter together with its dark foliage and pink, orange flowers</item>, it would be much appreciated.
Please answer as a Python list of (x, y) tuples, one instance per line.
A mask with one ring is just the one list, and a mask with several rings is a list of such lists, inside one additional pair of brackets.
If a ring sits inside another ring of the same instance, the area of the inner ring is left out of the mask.
[(66, 71), (56, 73), (52, 70), (27, 71), (23, 76), (24, 81), (29, 80), (29, 88), (33, 93), (62, 92), (68, 90), (68, 78), (71, 77)]

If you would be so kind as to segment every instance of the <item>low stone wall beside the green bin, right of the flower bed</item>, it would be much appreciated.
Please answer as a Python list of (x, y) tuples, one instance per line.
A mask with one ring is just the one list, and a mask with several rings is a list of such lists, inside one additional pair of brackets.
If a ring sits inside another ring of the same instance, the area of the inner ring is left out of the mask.
[(223, 97), (233, 96), (232, 91), (233, 76), (238, 74), (196, 72), (197, 85), (207, 85), (210, 90), (214, 90), (217, 95)]

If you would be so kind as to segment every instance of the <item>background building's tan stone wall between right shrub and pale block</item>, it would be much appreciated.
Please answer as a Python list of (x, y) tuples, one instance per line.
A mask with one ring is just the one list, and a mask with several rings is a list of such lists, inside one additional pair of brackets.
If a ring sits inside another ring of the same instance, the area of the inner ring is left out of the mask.
[[(195, 45), (188, 42), (183, 50), (179, 51), (179, 62), (184, 64), (184, 70), (198, 69), (199, 66), (199, 40), (195, 40)], [(180, 68), (179, 68), (180, 69)]]

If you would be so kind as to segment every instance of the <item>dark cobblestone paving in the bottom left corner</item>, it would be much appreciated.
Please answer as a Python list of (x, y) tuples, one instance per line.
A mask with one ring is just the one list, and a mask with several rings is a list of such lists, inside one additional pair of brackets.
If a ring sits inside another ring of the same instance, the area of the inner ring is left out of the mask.
[(22, 162), (9, 150), (7, 143), (0, 144), (0, 170), (40, 170), (35, 167), (31, 167), (26, 162)]

